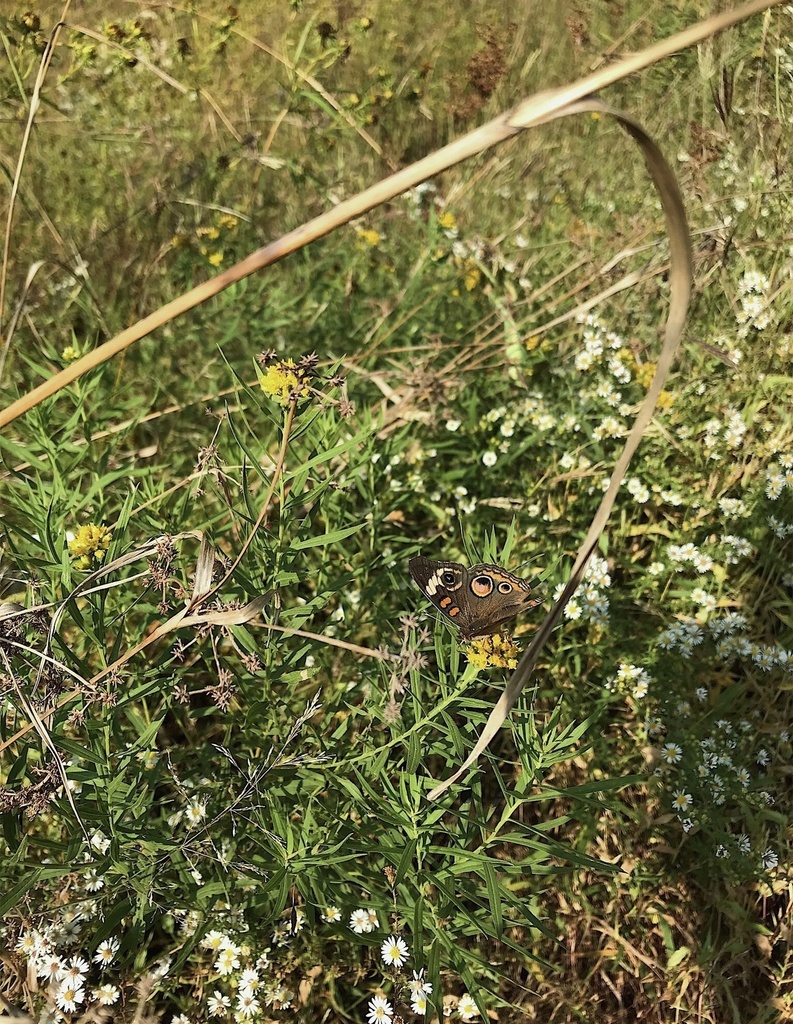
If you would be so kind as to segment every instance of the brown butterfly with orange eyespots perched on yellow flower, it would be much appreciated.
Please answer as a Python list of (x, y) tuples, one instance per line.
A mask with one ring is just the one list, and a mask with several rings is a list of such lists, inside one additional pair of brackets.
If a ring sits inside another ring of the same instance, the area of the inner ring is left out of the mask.
[(498, 627), (520, 611), (542, 604), (532, 588), (500, 565), (433, 562), (417, 555), (408, 569), (424, 597), (460, 627), (463, 640), (497, 633)]

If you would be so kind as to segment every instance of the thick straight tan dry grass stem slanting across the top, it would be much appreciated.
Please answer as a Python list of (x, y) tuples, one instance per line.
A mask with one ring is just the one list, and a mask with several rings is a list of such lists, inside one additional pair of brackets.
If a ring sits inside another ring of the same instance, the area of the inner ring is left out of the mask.
[(251, 253), (250, 256), (241, 260), (235, 266), (223, 270), (212, 278), (185, 292), (178, 298), (166, 303), (160, 309), (149, 316), (144, 316), (137, 324), (127, 328), (115, 338), (107, 341), (103, 345), (77, 359), (55, 374), (48, 381), (34, 388), (27, 395), (12, 402), (6, 409), (0, 411), (0, 427), (11, 423), (17, 417), (23, 416), (29, 410), (35, 408), (45, 398), (56, 394), (61, 388), (67, 387), (78, 380), (83, 374), (100, 366), (108, 359), (124, 351), (130, 345), (144, 338), (157, 328), (180, 316), (190, 309), (194, 309), (202, 302), (222, 292), (229, 285), (236, 284), (243, 278), (261, 270), (265, 266), (276, 263), (290, 253), (302, 249), (309, 242), (315, 242), (326, 234), (329, 234), (336, 227), (348, 223), (356, 217), (362, 216), (369, 210), (380, 206), (382, 203), (393, 199), (408, 188), (412, 188), (426, 178), (439, 174), (441, 171), (460, 163), (469, 157), (482, 153), (506, 138), (510, 138), (524, 128), (534, 125), (544, 124), (551, 118), (558, 116), (566, 108), (583, 99), (598, 89), (603, 89), (609, 85), (621, 81), (629, 75), (635, 74), (643, 68), (649, 68), (659, 60), (671, 56), (686, 47), (696, 46), (697, 43), (708, 39), (710, 36), (739, 22), (743, 22), (753, 14), (778, 6), (782, 0), (752, 0), (751, 3), (737, 7), (735, 10), (724, 11), (714, 17), (700, 22), (684, 32), (670, 36), (668, 39), (654, 46), (634, 53), (623, 60), (619, 60), (608, 68), (603, 68), (586, 78), (580, 79), (573, 85), (565, 86), (561, 89), (548, 90), (538, 93), (531, 99), (524, 100), (513, 111), (503, 114), (495, 120), (484, 125), (482, 128), (464, 135), (462, 138), (449, 145), (444, 146), (436, 153), (423, 160), (417, 161), (410, 167), (395, 174), (390, 175), (373, 185), (371, 188), (359, 193), (358, 196), (339, 203), (338, 206), (327, 213), (315, 217), (300, 227), (289, 231), (276, 242), (264, 246), (262, 249)]

